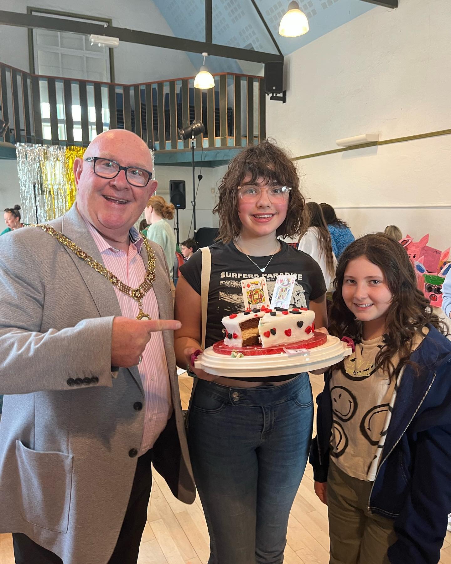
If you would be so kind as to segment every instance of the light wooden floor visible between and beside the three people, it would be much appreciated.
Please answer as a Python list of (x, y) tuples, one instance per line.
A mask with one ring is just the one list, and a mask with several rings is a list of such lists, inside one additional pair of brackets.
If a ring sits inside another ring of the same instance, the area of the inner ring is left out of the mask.
[[(180, 376), (180, 394), (186, 408), (191, 378)], [(311, 376), (313, 395), (322, 390), (322, 376)], [(316, 407), (316, 404), (315, 404)], [(209, 536), (200, 501), (185, 505), (176, 500), (160, 475), (154, 472), (147, 525), (139, 553), (139, 564), (205, 564), (209, 557)], [(329, 562), (326, 506), (313, 492), (312, 467), (306, 473), (291, 509), (288, 525), (286, 564)], [(441, 552), (441, 564), (451, 564), (451, 533)], [(11, 535), (0, 535), (0, 564), (14, 564)], [(251, 564), (251, 563), (249, 563)]]

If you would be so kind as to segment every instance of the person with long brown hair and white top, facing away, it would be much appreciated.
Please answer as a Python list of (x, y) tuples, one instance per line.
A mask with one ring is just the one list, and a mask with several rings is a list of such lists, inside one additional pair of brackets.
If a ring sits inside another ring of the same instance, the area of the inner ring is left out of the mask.
[(316, 202), (308, 202), (306, 211), (309, 227), (301, 237), (298, 250), (309, 254), (320, 265), (328, 292), (332, 289), (337, 259), (332, 251), (331, 237), (321, 207)]

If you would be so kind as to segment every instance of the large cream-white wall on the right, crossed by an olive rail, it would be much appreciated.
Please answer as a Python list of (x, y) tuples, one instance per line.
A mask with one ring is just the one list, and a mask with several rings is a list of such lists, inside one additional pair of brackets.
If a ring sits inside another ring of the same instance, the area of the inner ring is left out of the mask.
[[(286, 104), (267, 103), (267, 133), (292, 156), (448, 129), (449, 0), (377, 7), (286, 58)], [(312, 200), (337, 208), (356, 235), (397, 224), (430, 244), (451, 243), (451, 135), (298, 161)], [(402, 206), (413, 206), (403, 208)], [(441, 206), (439, 208), (429, 206)]]

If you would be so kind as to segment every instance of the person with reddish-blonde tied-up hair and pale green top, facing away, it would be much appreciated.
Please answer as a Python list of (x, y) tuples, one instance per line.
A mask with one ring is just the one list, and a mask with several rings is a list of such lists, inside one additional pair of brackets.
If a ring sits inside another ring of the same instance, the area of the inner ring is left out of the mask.
[(165, 253), (167, 266), (174, 279), (175, 235), (174, 230), (165, 219), (174, 218), (174, 205), (168, 204), (162, 196), (152, 196), (144, 210), (145, 221), (149, 224), (144, 235), (160, 245)]

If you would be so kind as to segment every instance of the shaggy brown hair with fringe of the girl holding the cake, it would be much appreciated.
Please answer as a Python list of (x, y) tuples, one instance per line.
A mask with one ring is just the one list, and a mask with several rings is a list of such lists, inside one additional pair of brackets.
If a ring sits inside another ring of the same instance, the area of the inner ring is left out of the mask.
[(296, 166), (285, 151), (266, 140), (258, 145), (249, 145), (229, 162), (227, 172), (219, 185), (218, 204), (213, 210), (213, 213), (219, 215), (217, 240), (227, 244), (240, 235), (237, 187), (241, 186), (247, 174), (251, 176), (251, 183), (262, 179), (266, 184), (276, 182), (281, 186), (291, 187), (286, 218), (277, 228), (276, 236), (295, 237), (306, 230), (306, 202), (299, 190)]

